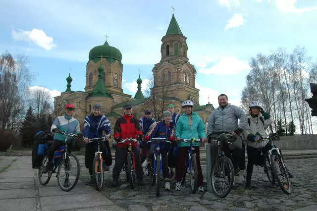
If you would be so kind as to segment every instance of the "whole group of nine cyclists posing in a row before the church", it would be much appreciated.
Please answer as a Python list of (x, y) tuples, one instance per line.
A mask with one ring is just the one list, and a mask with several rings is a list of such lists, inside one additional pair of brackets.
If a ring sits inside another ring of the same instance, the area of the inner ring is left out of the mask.
[[(135, 156), (135, 170), (137, 177), (137, 185), (144, 185), (143, 181), (143, 167), (146, 167), (151, 158), (153, 158), (155, 145), (148, 142), (151, 138), (164, 138), (168, 142), (164, 142), (161, 148), (162, 160), (162, 176), (165, 182), (165, 189), (170, 190), (170, 175), (168, 167), (171, 161), (176, 165), (176, 185), (175, 190), (181, 190), (181, 180), (184, 175), (184, 165), (187, 156), (189, 143), (185, 143), (183, 139), (200, 139), (202, 142), (209, 142), (208, 137), (215, 137), (221, 133), (229, 133), (235, 137), (232, 146), (226, 146), (224, 149), (225, 155), (231, 158), (234, 166), (234, 174), (239, 175), (240, 170), (245, 169), (245, 144), (246, 140), (248, 165), (247, 165), (247, 179), (246, 187), (251, 188), (251, 176), (253, 172), (253, 165), (261, 165), (265, 163), (264, 157), (261, 155), (261, 150), (267, 148), (267, 143), (255, 144), (259, 141), (259, 136), (266, 137), (266, 129), (272, 123), (272, 119), (267, 112), (264, 112), (263, 106), (259, 102), (251, 102), (249, 105), (249, 113), (246, 114), (238, 106), (228, 104), (228, 97), (225, 94), (218, 96), (219, 106), (215, 108), (208, 119), (207, 134), (205, 132), (205, 124), (198, 113), (193, 112), (194, 103), (186, 100), (182, 103), (183, 113), (178, 114), (174, 110), (174, 105), (169, 104), (167, 109), (163, 112), (163, 118), (156, 121), (152, 118), (151, 110), (146, 110), (144, 116), (137, 119), (133, 115), (132, 106), (126, 104), (123, 106), (123, 116), (116, 119), (113, 131), (113, 138), (116, 141), (116, 151), (114, 167), (112, 170), (112, 184), (111, 186), (119, 185), (119, 175), (124, 165), (127, 148), (129, 143), (121, 142), (124, 139), (137, 139), (140, 144), (134, 142), (132, 144), (132, 151)], [(48, 150), (47, 156), (48, 164), (44, 171), (49, 171), (52, 166), (53, 152), (63, 144), (65, 140), (64, 135), (59, 131), (65, 133), (75, 133), (84, 137), (86, 144), (85, 149), (85, 165), (89, 170), (91, 183), (95, 182), (93, 177), (92, 163), (96, 152), (95, 143), (89, 142), (89, 139), (99, 138), (104, 136), (110, 138), (110, 122), (105, 115), (101, 113), (102, 107), (99, 104), (93, 106), (92, 114), (87, 116), (84, 120), (83, 134), (80, 131), (79, 121), (76, 120), (73, 114), (74, 106), (67, 104), (65, 106), (65, 114), (58, 116), (53, 122), (51, 131), (54, 133), (54, 142)], [(200, 148), (199, 143), (194, 143), (194, 151), (197, 160), (198, 170), (198, 191), (204, 192), (203, 174), (200, 164)], [(140, 149), (141, 148), (141, 149)], [(112, 158), (108, 142), (101, 143), (101, 151), (103, 152), (103, 169), (109, 170), (112, 164)], [(68, 152), (71, 152), (71, 144), (68, 146)], [(141, 153), (140, 153), (141, 152)], [(176, 152), (176, 153), (175, 153)], [(217, 147), (211, 145), (212, 162), (215, 160)], [(176, 160), (176, 162), (175, 162)], [(290, 177), (292, 175), (289, 173)]]

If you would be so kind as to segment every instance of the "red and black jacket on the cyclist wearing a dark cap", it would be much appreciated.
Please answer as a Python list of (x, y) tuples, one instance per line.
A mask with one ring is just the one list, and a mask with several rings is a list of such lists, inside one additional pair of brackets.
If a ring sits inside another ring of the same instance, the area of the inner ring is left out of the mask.
[[(133, 138), (136, 139), (137, 135), (142, 135), (142, 131), (140, 130), (139, 120), (133, 115), (118, 118), (114, 124), (114, 134), (113, 137), (121, 137), (122, 139)], [(133, 147), (137, 147), (138, 143), (133, 143)], [(129, 147), (129, 143), (117, 143), (117, 147), (119, 148), (127, 148)]]

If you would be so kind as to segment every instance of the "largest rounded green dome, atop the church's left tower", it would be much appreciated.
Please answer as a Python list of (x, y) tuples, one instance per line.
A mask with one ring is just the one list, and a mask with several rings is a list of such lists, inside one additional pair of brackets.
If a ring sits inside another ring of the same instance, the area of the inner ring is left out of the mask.
[(96, 46), (89, 52), (89, 60), (94, 58), (101, 58), (101, 56), (105, 58), (112, 58), (118, 61), (122, 60), (121, 52), (118, 49), (109, 46), (107, 41), (104, 45)]

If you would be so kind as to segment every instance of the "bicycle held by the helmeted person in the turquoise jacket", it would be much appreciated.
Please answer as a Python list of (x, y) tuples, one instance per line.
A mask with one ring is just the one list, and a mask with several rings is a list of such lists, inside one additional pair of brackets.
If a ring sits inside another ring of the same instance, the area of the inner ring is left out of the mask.
[(185, 172), (183, 176), (182, 185), (185, 183), (186, 173), (189, 174), (189, 182), (192, 193), (195, 194), (198, 189), (198, 167), (197, 167), (197, 159), (195, 154), (195, 148), (193, 146), (194, 143), (200, 142), (200, 139), (192, 138), (192, 139), (181, 139), (181, 141), (188, 143), (190, 142), (190, 146), (188, 148), (188, 152), (185, 160)]

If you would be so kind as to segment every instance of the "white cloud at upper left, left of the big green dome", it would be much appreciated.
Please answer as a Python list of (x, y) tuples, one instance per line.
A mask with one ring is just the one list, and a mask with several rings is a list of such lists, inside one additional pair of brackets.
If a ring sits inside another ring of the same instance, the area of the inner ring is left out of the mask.
[(42, 29), (32, 29), (32, 31), (24, 31), (19, 29), (16, 32), (12, 28), (12, 38), (18, 41), (26, 41), (38, 45), (45, 50), (51, 50), (53, 47), (56, 47), (56, 44), (53, 43), (53, 37), (49, 37)]

